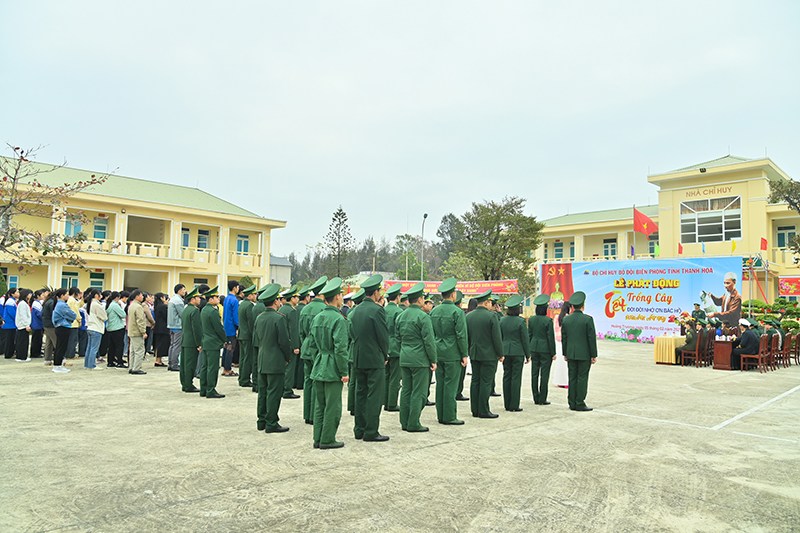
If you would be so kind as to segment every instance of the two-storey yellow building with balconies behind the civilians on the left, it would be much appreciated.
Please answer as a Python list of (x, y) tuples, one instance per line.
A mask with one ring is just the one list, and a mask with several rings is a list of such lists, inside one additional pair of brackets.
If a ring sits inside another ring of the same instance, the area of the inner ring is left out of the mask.
[[(53, 168), (38, 164), (42, 169)], [(90, 179), (92, 172), (59, 168), (39, 174), (46, 185)], [(82, 211), (89, 223), (15, 217), (14, 222), (43, 233), (88, 239), (81, 255), (87, 269), (59, 260), (47, 265), (18, 265), (0, 256), (10, 286), (40, 288), (96, 287), (172, 293), (177, 283), (189, 288), (220, 285), (249, 276), (259, 286), (269, 282), (270, 238), (286, 222), (263, 218), (199, 189), (123, 176), (110, 176), (100, 185), (69, 198), (68, 211)]]

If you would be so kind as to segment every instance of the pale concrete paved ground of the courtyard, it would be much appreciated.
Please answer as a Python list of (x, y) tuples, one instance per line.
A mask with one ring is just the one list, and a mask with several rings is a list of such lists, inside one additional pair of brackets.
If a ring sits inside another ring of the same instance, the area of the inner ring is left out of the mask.
[[(180, 391), (174, 372), (69, 374), (0, 361), (0, 531), (800, 530), (800, 367), (759, 375), (655, 365), (652, 346), (600, 343), (587, 403), (566, 392), (497, 420), (469, 416), (387, 443), (314, 450), (256, 431), (255, 394)], [(526, 367), (527, 368), (527, 367)], [(501, 383), (498, 372), (498, 386)]]

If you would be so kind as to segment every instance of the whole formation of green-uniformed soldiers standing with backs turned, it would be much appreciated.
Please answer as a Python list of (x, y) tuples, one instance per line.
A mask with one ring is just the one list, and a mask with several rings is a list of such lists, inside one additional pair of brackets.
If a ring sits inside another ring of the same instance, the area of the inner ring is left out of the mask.
[[(506, 302), (507, 313), (495, 310), (491, 290), (474, 298), (477, 306), (464, 312), (463, 294), (450, 278), (438, 287), (442, 303), (432, 303), (420, 282), (401, 292), (396, 283), (382, 293), (383, 278), (374, 275), (352, 297), (354, 307), (343, 307), (342, 280), (323, 276), (311, 286), (255, 286), (242, 291), (236, 309), (238, 331), (232, 338), (220, 321), (217, 288), (186, 294), (181, 313), (181, 386), (206, 398), (223, 398), (216, 390), (220, 352), (239, 345), (239, 385), (258, 393), (259, 431), (282, 433), (281, 400), (299, 398), (303, 391), (303, 418), (314, 426), (314, 448), (341, 448), (336, 440), (342, 416), (342, 389), (348, 385), (347, 409), (354, 416), (353, 436), (366, 442), (386, 442), (380, 433), (381, 410), (398, 412), (403, 431), (429, 431), (420, 423), (422, 410), (436, 406), (437, 420), (462, 425), (457, 402), (470, 400), (473, 417), (493, 419), (489, 408), (498, 363), (504, 365), (504, 406), (520, 412), (522, 372), (531, 363), (533, 399), (548, 405), (550, 364), (556, 357), (553, 321), (547, 316), (549, 296), (534, 299), (536, 314), (520, 316), (522, 298)], [(234, 294), (234, 296), (236, 296)], [(229, 296), (230, 297), (230, 296)], [(585, 294), (570, 298), (574, 311), (564, 318), (562, 351), (569, 366), (569, 407), (591, 411), (585, 404), (589, 369), (597, 358), (592, 318), (583, 313)], [(385, 306), (383, 305), (385, 302)], [(202, 310), (200, 310), (202, 309)], [(227, 309), (227, 302), (226, 302)], [(193, 383), (202, 359), (200, 388)], [(224, 364), (223, 357), (223, 364)], [(468, 363), (472, 365), (470, 397), (463, 396)], [(428, 399), (436, 383), (435, 402)], [(399, 402), (398, 402), (399, 394)]]

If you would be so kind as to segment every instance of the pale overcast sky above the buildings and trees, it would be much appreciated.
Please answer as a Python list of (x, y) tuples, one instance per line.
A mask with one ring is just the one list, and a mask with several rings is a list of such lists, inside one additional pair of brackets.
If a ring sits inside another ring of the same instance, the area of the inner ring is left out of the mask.
[[(470, 202), (539, 219), (657, 202), (726, 155), (800, 179), (800, 2), (0, 0), (0, 140), (199, 187), (304, 253), (426, 237)], [(8, 154), (8, 151), (4, 152)]]

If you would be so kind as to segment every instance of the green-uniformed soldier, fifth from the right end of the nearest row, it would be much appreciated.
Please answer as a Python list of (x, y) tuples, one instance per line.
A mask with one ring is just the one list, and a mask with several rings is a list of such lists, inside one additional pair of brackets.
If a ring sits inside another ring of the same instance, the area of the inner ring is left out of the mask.
[(456, 278), (439, 285), (442, 303), (431, 311), (433, 336), (436, 339), (436, 416), (440, 424), (461, 425), (458, 419), (456, 391), (461, 370), (467, 366), (467, 320), (456, 306)]

